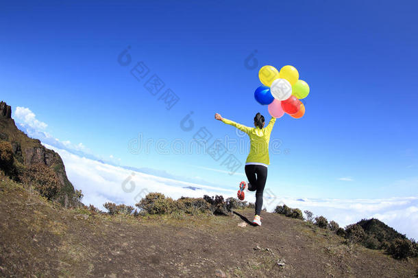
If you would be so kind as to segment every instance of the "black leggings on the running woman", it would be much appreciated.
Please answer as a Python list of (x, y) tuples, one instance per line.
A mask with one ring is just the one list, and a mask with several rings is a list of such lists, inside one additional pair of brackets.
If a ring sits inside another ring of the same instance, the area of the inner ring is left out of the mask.
[[(263, 165), (245, 165), (245, 174), (248, 178), (248, 190), (256, 191), (256, 215), (260, 215), (262, 208), (262, 192), (267, 181), (267, 167)], [(256, 176), (257, 174), (257, 176)]]

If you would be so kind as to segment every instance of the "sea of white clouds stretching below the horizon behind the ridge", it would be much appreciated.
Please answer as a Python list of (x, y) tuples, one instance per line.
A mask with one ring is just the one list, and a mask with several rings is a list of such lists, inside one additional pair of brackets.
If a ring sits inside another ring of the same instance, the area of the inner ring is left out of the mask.
[[(147, 192), (161, 192), (171, 198), (181, 196), (202, 197), (204, 194), (213, 196), (221, 194), (224, 198), (236, 197), (236, 189), (225, 189), (173, 178), (153, 176), (143, 172), (127, 170), (123, 167), (100, 163), (93, 159), (79, 157), (71, 152), (46, 145), (58, 152), (64, 161), (69, 180), (76, 189), (82, 189), (83, 202), (93, 204), (103, 209), (105, 202), (135, 205), (138, 199)], [(123, 190), (130, 189), (132, 192)], [(197, 187), (193, 190), (184, 187)], [(254, 192), (247, 192), (245, 200), (255, 201)], [(399, 233), (405, 233), (409, 238), (418, 238), (418, 197), (393, 197), (380, 199), (332, 199), (332, 198), (293, 198), (275, 197), (269, 189), (265, 189), (264, 207), (273, 211), (277, 205), (286, 204), (288, 207), (308, 209), (316, 216), (325, 216), (345, 227), (363, 218), (378, 218)]]

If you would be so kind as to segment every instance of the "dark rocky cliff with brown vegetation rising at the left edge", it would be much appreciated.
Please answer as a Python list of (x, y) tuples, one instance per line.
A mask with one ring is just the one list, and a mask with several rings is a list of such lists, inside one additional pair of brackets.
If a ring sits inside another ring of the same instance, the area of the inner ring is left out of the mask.
[(12, 108), (5, 102), (0, 102), (0, 170), (66, 207), (78, 201), (60, 155), (19, 130), (12, 119)]

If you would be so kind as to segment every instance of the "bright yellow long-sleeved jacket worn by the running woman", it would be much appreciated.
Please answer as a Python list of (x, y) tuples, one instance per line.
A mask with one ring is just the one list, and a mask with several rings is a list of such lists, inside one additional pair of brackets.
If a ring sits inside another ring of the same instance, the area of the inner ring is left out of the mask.
[(269, 158), (269, 141), (271, 130), (275, 123), (275, 117), (272, 117), (269, 124), (265, 128), (249, 128), (242, 124), (237, 124), (235, 121), (223, 118), (222, 121), (225, 124), (235, 126), (239, 130), (247, 133), (251, 146), (249, 148), (249, 154), (245, 163), (262, 163), (265, 165), (270, 164)]

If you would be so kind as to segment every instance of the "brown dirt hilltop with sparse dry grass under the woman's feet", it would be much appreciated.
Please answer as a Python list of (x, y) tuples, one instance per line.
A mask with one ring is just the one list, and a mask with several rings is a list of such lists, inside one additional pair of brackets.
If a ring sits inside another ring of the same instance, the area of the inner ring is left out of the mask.
[[(1, 277), (414, 277), (393, 259), (278, 213), (253, 209), (124, 216), (65, 209), (30, 186), (0, 181)], [(241, 224), (245, 227), (240, 227)], [(246, 224), (246, 225), (245, 225)], [(32, 275), (32, 276), (31, 276)]]

